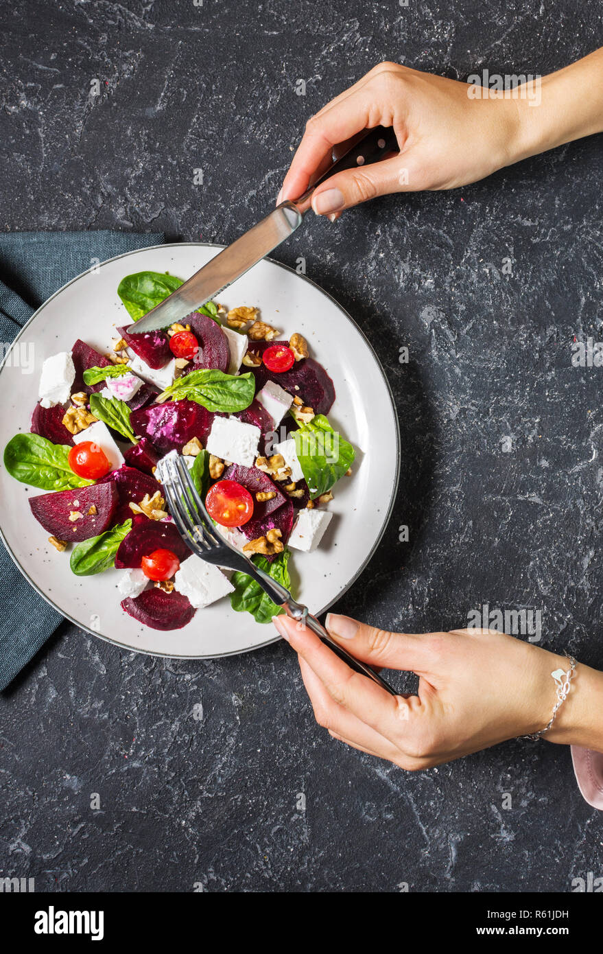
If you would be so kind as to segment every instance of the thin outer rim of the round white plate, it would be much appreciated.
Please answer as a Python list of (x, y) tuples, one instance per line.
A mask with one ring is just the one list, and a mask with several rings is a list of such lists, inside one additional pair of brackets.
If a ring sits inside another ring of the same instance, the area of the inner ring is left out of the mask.
[[(114, 255), (111, 259), (105, 259), (104, 261), (101, 261), (99, 265), (94, 266), (94, 267), (95, 267), (95, 268), (102, 268), (103, 265), (109, 264), (109, 263), (112, 262), (112, 261), (116, 261), (117, 259), (127, 259), (127, 258), (129, 258), (131, 255), (138, 255), (140, 252), (156, 251), (157, 248), (182, 248), (183, 246), (192, 246), (192, 247), (194, 247), (194, 248), (216, 248), (216, 249), (224, 249), (224, 248), (227, 248), (227, 247), (228, 247), (227, 245), (225, 245), (225, 244), (223, 244), (223, 243), (221, 243), (221, 242), (210, 242), (210, 241), (181, 241), (181, 242), (180, 242), (180, 241), (177, 241), (177, 242), (164, 242), (162, 245), (145, 245), (145, 246), (142, 247), (142, 248), (135, 248), (135, 249), (133, 249), (133, 250), (130, 251), (130, 252), (122, 252), (121, 255)], [(387, 510), (386, 510), (386, 512), (385, 512), (385, 519), (384, 519), (384, 521), (383, 521), (383, 525), (382, 525), (382, 528), (381, 528), (381, 530), (380, 530), (379, 536), (378, 536), (377, 539), (375, 540), (373, 546), (371, 547), (370, 552), (367, 554), (367, 556), (366, 556), (366, 558), (364, 559), (362, 565), (359, 567), (358, 570), (356, 570), (356, 572), (353, 574), (353, 576), (351, 576), (350, 579), (345, 583), (345, 586), (343, 587), (343, 589), (340, 590), (340, 591), (338, 592), (337, 596), (335, 596), (329, 603), (327, 603), (326, 606), (322, 607), (322, 609), (317, 612), (317, 616), (320, 616), (320, 615), (322, 615), (323, 612), (327, 611), (327, 610), (329, 609), (329, 607), (333, 606), (333, 604), (336, 603), (338, 599), (341, 599), (341, 597), (343, 596), (343, 594), (346, 593), (346, 592), (350, 589), (350, 587), (352, 587), (352, 586), (354, 585), (354, 583), (356, 582), (356, 580), (358, 579), (358, 577), (361, 575), (361, 573), (364, 572), (364, 570), (366, 569), (366, 567), (368, 566), (368, 564), (369, 564), (370, 561), (372, 560), (372, 558), (373, 558), (373, 556), (375, 555), (375, 553), (376, 553), (376, 551), (377, 551), (377, 549), (378, 549), (378, 547), (379, 547), (381, 541), (383, 540), (383, 537), (384, 537), (384, 534), (385, 534), (385, 530), (387, 529), (387, 526), (388, 526), (388, 524), (389, 524), (389, 520), (390, 520), (390, 518), (391, 518), (391, 514), (392, 514), (392, 512), (393, 512), (393, 508), (394, 508), (394, 506), (395, 506), (396, 497), (397, 497), (397, 495), (398, 495), (398, 487), (399, 487), (399, 484), (400, 484), (400, 469), (401, 469), (401, 464), (402, 464), (402, 462), (401, 462), (401, 453), (400, 453), (400, 452), (401, 452), (400, 422), (399, 422), (399, 420), (398, 420), (398, 413), (397, 413), (397, 410), (396, 410), (396, 403), (395, 403), (395, 400), (394, 400), (394, 394), (393, 394), (393, 391), (392, 391), (392, 389), (391, 389), (391, 384), (389, 384), (389, 381), (388, 381), (387, 376), (386, 376), (386, 374), (385, 374), (385, 368), (384, 368), (383, 364), (381, 363), (381, 361), (380, 361), (380, 359), (379, 359), (379, 356), (377, 355), (377, 352), (375, 351), (373, 345), (371, 344), (371, 342), (369, 342), (368, 338), (367, 338), (366, 335), (364, 334), (363, 329), (360, 327), (360, 325), (357, 323), (357, 321), (354, 321), (354, 319), (352, 318), (352, 316), (351, 316), (351, 315), (349, 314), (349, 312), (343, 307), (343, 305), (340, 304), (339, 301), (337, 301), (335, 298), (333, 298), (333, 296), (330, 295), (329, 292), (325, 291), (325, 290), (321, 287), (321, 285), (318, 284), (318, 282), (316, 282), (316, 281), (314, 281), (314, 280), (312, 280), (312, 279), (309, 279), (309, 278), (307, 277), (307, 275), (304, 275), (304, 274), (302, 274), (301, 272), (296, 271), (296, 269), (295, 269), (295, 268), (292, 268), (291, 265), (285, 265), (284, 262), (282, 262), (282, 261), (277, 261), (276, 259), (271, 259), (271, 258), (269, 258), (268, 256), (264, 256), (264, 258), (261, 259), (261, 261), (269, 261), (269, 262), (270, 262), (271, 264), (273, 264), (273, 265), (278, 265), (279, 268), (282, 268), (282, 269), (284, 269), (284, 270), (287, 271), (287, 272), (292, 272), (295, 276), (297, 276), (297, 278), (302, 279), (302, 280), (306, 281), (308, 284), (312, 285), (312, 286), (313, 286), (314, 288), (316, 288), (317, 291), (319, 291), (326, 299), (328, 299), (329, 301), (332, 301), (333, 304), (334, 304), (337, 308), (339, 308), (339, 310), (343, 313), (343, 316), (347, 319), (347, 321), (349, 321), (351, 324), (354, 325), (354, 327), (356, 328), (356, 330), (358, 331), (358, 333), (359, 333), (359, 334), (361, 335), (361, 337), (363, 338), (364, 344), (366, 345), (366, 347), (367, 347), (368, 350), (370, 351), (370, 353), (371, 353), (371, 355), (372, 355), (372, 357), (373, 357), (373, 360), (374, 360), (374, 362), (375, 362), (375, 364), (376, 364), (376, 366), (377, 366), (377, 368), (378, 368), (378, 370), (379, 370), (379, 372), (380, 372), (380, 374), (381, 374), (381, 376), (382, 376), (382, 378), (383, 378), (386, 392), (387, 392), (387, 394), (389, 395), (389, 400), (390, 400), (390, 403), (391, 403), (392, 415), (393, 415), (394, 425), (395, 425), (394, 429), (395, 429), (395, 438), (396, 438), (396, 473), (395, 473), (395, 478), (394, 478), (394, 482), (393, 482), (392, 489), (391, 489), (391, 496), (390, 496), (390, 498), (389, 498), (389, 503), (388, 503), (388, 505), (387, 505)], [(43, 301), (42, 304), (39, 306), (39, 308), (36, 308), (36, 310), (33, 312), (33, 314), (31, 315), (31, 317), (25, 322), (25, 324), (24, 324), (23, 327), (20, 329), (20, 331), (18, 332), (18, 334), (16, 335), (16, 337), (15, 337), (15, 338), (13, 339), (13, 341), (10, 343), (10, 348), (9, 348), (7, 351), (5, 351), (4, 357), (3, 357), (2, 361), (0, 362), (0, 374), (2, 374), (2, 371), (4, 370), (5, 365), (7, 364), (8, 360), (9, 360), (9, 357), (10, 357), (10, 354), (11, 354), (11, 352), (12, 352), (12, 349), (14, 348), (15, 344), (19, 341), (19, 339), (21, 338), (21, 336), (25, 333), (25, 331), (27, 330), (27, 328), (30, 326), (31, 321), (33, 321), (35, 318), (37, 318), (37, 316), (40, 314), (40, 312), (41, 312), (44, 308), (46, 308), (46, 306), (47, 306), (48, 304), (50, 304), (50, 302), (51, 302), (54, 298), (56, 298), (57, 295), (60, 295), (61, 292), (63, 292), (66, 288), (69, 288), (70, 285), (73, 285), (73, 282), (78, 281), (78, 280), (80, 280), (81, 278), (83, 278), (83, 276), (90, 274), (91, 271), (92, 271), (92, 269), (86, 269), (85, 271), (80, 272), (79, 275), (76, 275), (75, 278), (73, 278), (73, 279), (71, 279), (71, 280), (69, 280), (69, 281), (66, 281), (64, 285), (61, 285), (60, 288), (57, 288), (57, 290), (51, 295), (50, 298), (48, 298), (46, 301)], [(159, 658), (159, 659), (183, 659), (183, 660), (194, 660), (194, 659), (225, 659), (225, 658), (227, 658), (228, 656), (237, 656), (237, 655), (242, 655), (243, 653), (255, 653), (256, 650), (263, 649), (263, 648), (266, 647), (266, 646), (271, 646), (273, 643), (279, 642), (280, 639), (281, 639), (281, 636), (275, 635), (275, 636), (272, 636), (270, 639), (267, 639), (267, 640), (266, 640), (265, 642), (263, 642), (263, 643), (257, 643), (257, 644), (254, 645), (254, 646), (249, 646), (249, 647), (246, 647), (246, 648), (244, 648), (244, 649), (232, 650), (231, 652), (228, 652), (228, 653), (219, 653), (219, 655), (217, 655), (217, 654), (214, 653), (214, 654), (211, 654), (211, 655), (194, 655), (194, 656), (181, 655), (181, 654), (179, 654), (179, 653), (157, 653), (157, 652), (154, 652), (154, 651), (151, 651), (151, 650), (138, 649), (138, 648), (136, 648), (136, 647), (134, 647), (134, 646), (129, 646), (129, 645), (125, 644), (125, 643), (120, 643), (117, 639), (111, 639), (109, 636), (104, 636), (102, 633), (96, 633), (96, 631), (90, 629), (90, 627), (82, 626), (82, 624), (79, 623), (76, 619), (73, 619), (73, 616), (71, 616), (69, 613), (64, 612), (63, 610), (61, 610), (60, 607), (56, 606), (56, 604), (52, 601), (52, 599), (51, 599), (49, 596), (47, 596), (47, 594), (46, 594), (44, 591), (42, 591), (42, 590), (37, 586), (36, 583), (34, 583), (34, 581), (31, 579), (31, 576), (30, 576), (30, 574), (28, 573), (28, 571), (25, 570), (25, 569), (21, 566), (21, 564), (19, 563), (19, 561), (17, 560), (15, 554), (14, 554), (14, 553), (12, 552), (12, 550), (10, 549), (9, 543), (8, 543), (8, 541), (7, 541), (7, 539), (6, 539), (5, 535), (4, 535), (4, 531), (3, 531), (3, 529), (2, 529), (2, 524), (1, 524), (1, 522), (0, 522), (0, 540), (2, 540), (2, 543), (4, 544), (4, 546), (5, 546), (6, 550), (7, 550), (7, 552), (10, 554), (10, 558), (11, 558), (12, 562), (14, 563), (14, 565), (16, 566), (17, 570), (19, 570), (20, 573), (25, 577), (25, 579), (26, 579), (27, 582), (30, 584), (30, 586), (33, 588), (33, 590), (35, 590), (44, 600), (46, 600), (46, 602), (47, 602), (50, 606), (52, 606), (52, 609), (55, 610), (56, 612), (58, 612), (58, 614), (59, 614), (61, 617), (63, 617), (63, 619), (69, 620), (71, 623), (73, 623), (73, 626), (75, 626), (78, 630), (81, 630), (83, 633), (88, 633), (88, 634), (91, 635), (91, 636), (95, 636), (97, 639), (102, 639), (103, 642), (109, 643), (109, 644), (112, 645), (112, 646), (116, 646), (116, 647), (118, 647), (120, 650), (125, 650), (125, 651), (127, 651), (128, 653), (143, 653), (144, 655), (155, 656), (156, 658)], [(60, 624), (59, 624), (59, 625), (60, 625)]]

